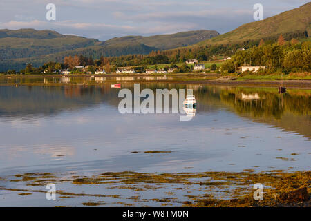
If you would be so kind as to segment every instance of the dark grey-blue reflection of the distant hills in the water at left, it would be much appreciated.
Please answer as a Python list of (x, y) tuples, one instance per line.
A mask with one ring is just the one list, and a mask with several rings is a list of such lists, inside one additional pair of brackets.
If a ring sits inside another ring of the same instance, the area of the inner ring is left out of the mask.
[(0, 116), (54, 115), (63, 110), (100, 104), (104, 102), (104, 95), (108, 95), (104, 88), (95, 86), (1, 86)]

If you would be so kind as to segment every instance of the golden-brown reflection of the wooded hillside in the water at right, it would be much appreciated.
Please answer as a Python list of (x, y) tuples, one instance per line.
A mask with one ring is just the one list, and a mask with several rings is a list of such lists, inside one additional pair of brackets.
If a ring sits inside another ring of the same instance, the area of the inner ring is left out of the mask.
[[(255, 91), (260, 99), (242, 99), (242, 93), (252, 95)], [(220, 97), (238, 115), (311, 139), (311, 97), (308, 91), (290, 90), (289, 93), (279, 95), (275, 90), (267, 88), (236, 88), (223, 90)]]

